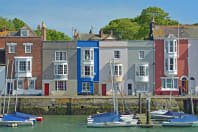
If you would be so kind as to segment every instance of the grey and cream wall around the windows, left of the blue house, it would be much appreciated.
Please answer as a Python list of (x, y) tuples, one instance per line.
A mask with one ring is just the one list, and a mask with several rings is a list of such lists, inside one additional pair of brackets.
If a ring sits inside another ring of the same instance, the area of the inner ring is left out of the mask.
[[(42, 69), (43, 69), (43, 89), (44, 83), (48, 81), (51, 95), (77, 95), (77, 50), (75, 41), (43, 41), (42, 44)], [(54, 61), (56, 51), (66, 51), (68, 61), (68, 80), (66, 81), (66, 91), (55, 90)], [(43, 91), (44, 92), (44, 91)]]

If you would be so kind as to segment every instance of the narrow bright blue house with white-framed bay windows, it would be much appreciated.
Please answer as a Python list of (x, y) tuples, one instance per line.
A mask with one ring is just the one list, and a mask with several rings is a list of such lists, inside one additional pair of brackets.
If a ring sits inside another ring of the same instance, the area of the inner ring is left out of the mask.
[(98, 94), (99, 41), (77, 41), (78, 95)]

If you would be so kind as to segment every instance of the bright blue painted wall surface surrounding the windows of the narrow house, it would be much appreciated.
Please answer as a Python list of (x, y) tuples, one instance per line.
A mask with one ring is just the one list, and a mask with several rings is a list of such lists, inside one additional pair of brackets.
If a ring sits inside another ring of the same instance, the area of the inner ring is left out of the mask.
[[(81, 77), (81, 48), (94, 48), (94, 77)], [(77, 41), (77, 82), (78, 95), (94, 94), (94, 83), (99, 82), (99, 42), (98, 41)], [(90, 92), (82, 93), (82, 82), (90, 82)]]

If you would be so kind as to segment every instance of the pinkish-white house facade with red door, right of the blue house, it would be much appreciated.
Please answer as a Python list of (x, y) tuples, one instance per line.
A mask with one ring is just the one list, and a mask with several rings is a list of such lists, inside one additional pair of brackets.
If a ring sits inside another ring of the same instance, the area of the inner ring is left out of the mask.
[[(114, 70), (115, 81), (120, 89), (120, 92), (122, 93), (122, 95), (128, 94), (127, 89), (125, 89), (128, 72), (127, 46), (127, 41), (100, 41), (99, 95), (112, 95), (112, 70)], [(114, 69), (112, 68), (112, 66), (114, 66)]]

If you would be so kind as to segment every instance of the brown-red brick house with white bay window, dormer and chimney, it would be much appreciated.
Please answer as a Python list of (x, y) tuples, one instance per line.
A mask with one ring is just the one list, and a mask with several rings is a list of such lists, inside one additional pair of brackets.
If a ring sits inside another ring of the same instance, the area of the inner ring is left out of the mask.
[(46, 39), (45, 24), (42, 36), (37, 36), (28, 26), (20, 31), (0, 32), (0, 47), (5, 48), (8, 66), (7, 94), (42, 94), (42, 40)]

